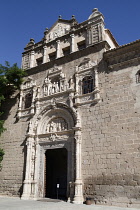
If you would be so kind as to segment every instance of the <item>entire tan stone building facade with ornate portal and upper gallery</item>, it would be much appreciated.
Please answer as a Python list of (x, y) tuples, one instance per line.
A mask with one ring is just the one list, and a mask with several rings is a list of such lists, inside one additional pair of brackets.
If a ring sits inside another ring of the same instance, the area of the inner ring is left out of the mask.
[[(139, 40), (118, 46), (98, 9), (80, 24), (59, 17), (30, 40), (28, 76), (6, 104), (1, 194), (52, 196), (50, 174), (60, 188), (66, 180), (70, 202), (140, 207), (139, 49)], [(61, 163), (47, 167), (64, 148), (65, 177)]]

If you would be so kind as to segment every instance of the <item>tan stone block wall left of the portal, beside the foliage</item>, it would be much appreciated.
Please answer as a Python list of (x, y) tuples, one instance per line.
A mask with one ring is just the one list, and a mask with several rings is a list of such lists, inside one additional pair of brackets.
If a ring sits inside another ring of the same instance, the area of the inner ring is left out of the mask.
[(28, 123), (16, 121), (18, 108), (18, 94), (4, 103), (6, 131), (1, 136), (1, 147), (5, 155), (0, 171), (0, 193), (8, 195), (21, 195), (24, 179), (26, 157), (26, 132)]

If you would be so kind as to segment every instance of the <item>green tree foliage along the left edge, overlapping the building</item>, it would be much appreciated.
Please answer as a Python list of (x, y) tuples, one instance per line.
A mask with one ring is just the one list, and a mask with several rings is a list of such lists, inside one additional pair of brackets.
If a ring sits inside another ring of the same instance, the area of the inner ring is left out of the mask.
[[(18, 68), (17, 64), (10, 66), (9, 62), (5, 62), (5, 66), (0, 64), (0, 106), (4, 100), (9, 98), (15, 90), (20, 89), (23, 77), (26, 73), (23, 69)], [(3, 113), (0, 112), (0, 117)], [(0, 135), (5, 130), (4, 121), (0, 120)], [(4, 151), (0, 148), (0, 168)]]

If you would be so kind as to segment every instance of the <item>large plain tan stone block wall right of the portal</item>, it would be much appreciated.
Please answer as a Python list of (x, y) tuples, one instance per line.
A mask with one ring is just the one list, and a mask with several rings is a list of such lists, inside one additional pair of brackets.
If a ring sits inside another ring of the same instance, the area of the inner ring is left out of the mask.
[(84, 195), (95, 203), (140, 207), (138, 69), (101, 71), (101, 102), (81, 108)]

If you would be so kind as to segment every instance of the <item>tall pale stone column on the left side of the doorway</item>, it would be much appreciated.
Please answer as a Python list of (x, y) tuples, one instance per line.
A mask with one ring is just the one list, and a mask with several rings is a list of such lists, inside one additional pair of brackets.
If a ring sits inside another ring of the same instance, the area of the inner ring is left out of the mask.
[(27, 159), (26, 159), (25, 180), (23, 182), (23, 194), (22, 194), (23, 200), (29, 199), (31, 196), (31, 185), (32, 185), (31, 167), (32, 167), (33, 144), (34, 144), (34, 138), (29, 136), (27, 143), (26, 143), (26, 145), (27, 145)]

